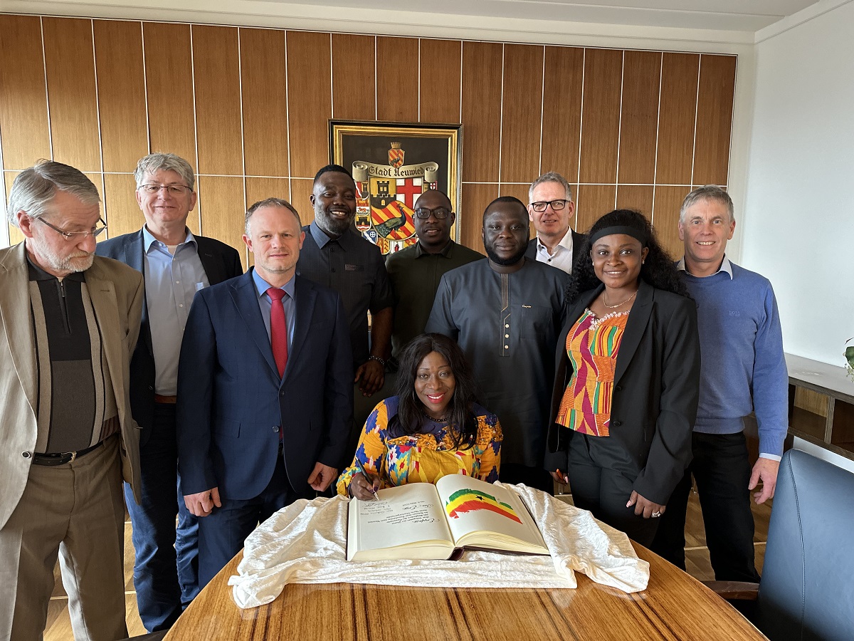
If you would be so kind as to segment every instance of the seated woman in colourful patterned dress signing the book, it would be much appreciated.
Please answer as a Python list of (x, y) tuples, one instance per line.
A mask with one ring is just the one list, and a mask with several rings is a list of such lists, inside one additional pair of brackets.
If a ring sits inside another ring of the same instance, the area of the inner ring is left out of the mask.
[(462, 350), (442, 334), (421, 334), (400, 361), (397, 396), (371, 412), (353, 464), (338, 479), (338, 493), (366, 500), (378, 489), (436, 483), (447, 474), (498, 480), (501, 426), (474, 402), (475, 383)]

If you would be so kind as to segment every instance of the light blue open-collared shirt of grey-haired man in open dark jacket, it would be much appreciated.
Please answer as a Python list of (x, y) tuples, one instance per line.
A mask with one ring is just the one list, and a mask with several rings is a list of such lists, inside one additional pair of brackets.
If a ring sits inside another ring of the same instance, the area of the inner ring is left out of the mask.
[(151, 344), (155, 356), (155, 393), (175, 396), (178, 390), (178, 356), (190, 304), (196, 291), (210, 285), (199, 258), (196, 238), (175, 247), (174, 255), (143, 226), (145, 250), (145, 304), (149, 312)]

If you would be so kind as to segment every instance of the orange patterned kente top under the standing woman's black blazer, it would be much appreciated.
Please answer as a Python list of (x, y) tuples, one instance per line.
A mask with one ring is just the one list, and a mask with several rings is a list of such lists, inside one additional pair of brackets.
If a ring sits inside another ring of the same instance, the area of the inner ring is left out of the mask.
[(608, 436), (617, 351), (628, 320), (629, 312), (597, 318), (585, 309), (570, 328), (566, 353), (572, 378), (560, 401), (556, 423), (590, 436)]

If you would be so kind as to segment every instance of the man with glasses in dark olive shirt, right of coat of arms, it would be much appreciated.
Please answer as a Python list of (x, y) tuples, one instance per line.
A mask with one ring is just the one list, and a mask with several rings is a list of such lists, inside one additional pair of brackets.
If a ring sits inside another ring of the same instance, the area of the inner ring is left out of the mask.
[(395, 292), (395, 325), (391, 332), (391, 355), (395, 359), (404, 345), (424, 332), (442, 275), (483, 259), (483, 254), (453, 242), (451, 226), (455, 219), (446, 194), (424, 191), (415, 201), (418, 243), (385, 259)]

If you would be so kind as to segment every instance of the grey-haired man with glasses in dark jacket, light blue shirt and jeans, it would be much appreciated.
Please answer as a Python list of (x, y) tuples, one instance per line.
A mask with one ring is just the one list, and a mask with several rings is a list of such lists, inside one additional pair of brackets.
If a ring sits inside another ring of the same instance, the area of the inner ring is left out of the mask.
[[(237, 250), (196, 236), (187, 216), (196, 206), (190, 163), (149, 154), (137, 163), (138, 232), (97, 244), (96, 252), (143, 273), (143, 322), (131, 362), (131, 408), (140, 433), (142, 502), (125, 484), (133, 523), (137, 607), (149, 632), (166, 630), (198, 593), (198, 526), (178, 491), (175, 399), (178, 354), (196, 291), (243, 273)], [(176, 532), (175, 515), (178, 515)]]

